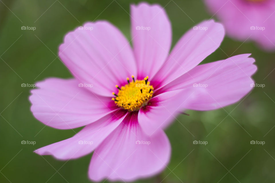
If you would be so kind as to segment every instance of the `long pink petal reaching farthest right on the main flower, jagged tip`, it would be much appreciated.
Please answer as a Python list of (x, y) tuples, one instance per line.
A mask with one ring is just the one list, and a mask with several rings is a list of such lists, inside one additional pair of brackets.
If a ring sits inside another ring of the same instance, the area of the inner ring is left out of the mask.
[[(191, 88), (201, 84), (199, 93), (188, 109), (214, 110), (239, 101), (253, 87), (251, 75), (257, 70), (250, 54), (236, 55), (225, 60), (199, 65), (161, 88), (159, 93)], [(207, 85), (207, 86), (206, 86)]]

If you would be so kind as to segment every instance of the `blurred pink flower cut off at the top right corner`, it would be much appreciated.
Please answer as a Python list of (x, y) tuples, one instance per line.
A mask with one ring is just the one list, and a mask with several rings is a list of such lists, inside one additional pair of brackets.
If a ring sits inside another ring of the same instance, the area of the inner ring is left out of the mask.
[(275, 50), (274, 0), (205, 0), (205, 3), (230, 37), (253, 40), (263, 49)]

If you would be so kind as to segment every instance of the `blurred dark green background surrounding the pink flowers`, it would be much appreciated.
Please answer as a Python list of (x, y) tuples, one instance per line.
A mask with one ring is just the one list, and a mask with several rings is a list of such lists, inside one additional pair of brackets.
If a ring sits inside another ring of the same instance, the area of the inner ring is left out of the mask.
[[(31, 87), (21, 84), (47, 77), (72, 77), (57, 57), (58, 45), (68, 31), (86, 21), (106, 19), (130, 40), (129, 5), (138, 2), (0, 1), (1, 183), (90, 182), (87, 171), (91, 154), (66, 162), (33, 153), (75, 133), (36, 120), (28, 100)], [(148, 2), (165, 7), (172, 22), (172, 45), (188, 29), (211, 17), (201, 0)], [(21, 26), (36, 30), (21, 30)], [(255, 87), (242, 101), (224, 109), (187, 111), (190, 116), (179, 116), (166, 130), (172, 144), (170, 164), (161, 174), (137, 182), (275, 182), (275, 53), (266, 53), (249, 41), (225, 37), (221, 47), (203, 63), (242, 53), (252, 53), (258, 66), (253, 78), (265, 87)], [(22, 140), (36, 144), (21, 144)], [(193, 144), (194, 140), (208, 144)], [(250, 144), (251, 140), (265, 144)]]

